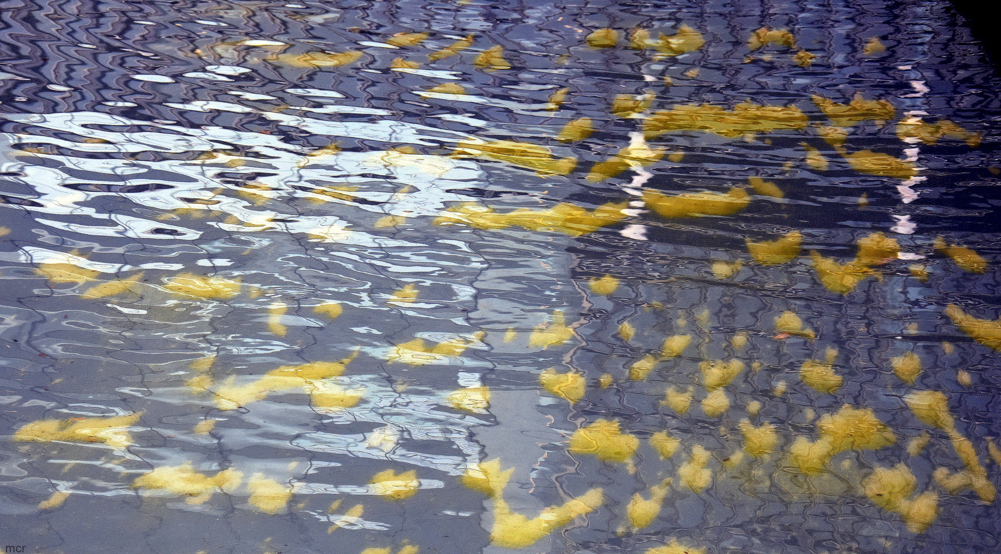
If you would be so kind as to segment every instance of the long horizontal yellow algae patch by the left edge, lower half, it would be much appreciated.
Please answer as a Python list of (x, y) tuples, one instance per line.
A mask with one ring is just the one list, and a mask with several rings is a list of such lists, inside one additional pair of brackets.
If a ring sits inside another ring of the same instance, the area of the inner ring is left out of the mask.
[(103, 442), (111, 447), (124, 448), (132, 444), (132, 437), (127, 428), (135, 425), (141, 415), (42, 419), (22, 425), (14, 433), (14, 440), (22, 442)]

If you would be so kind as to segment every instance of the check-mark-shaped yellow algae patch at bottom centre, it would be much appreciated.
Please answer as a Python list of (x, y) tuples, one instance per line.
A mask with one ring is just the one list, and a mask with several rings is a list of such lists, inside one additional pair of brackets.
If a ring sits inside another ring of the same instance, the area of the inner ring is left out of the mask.
[(574, 518), (591, 513), (605, 503), (602, 489), (591, 489), (585, 494), (567, 501), (563, 506), (551, 506), (543, 510), (539, 517), (528, 517), (514, 513), (502, 496), (493, 499), (493, 527), (490, 542), (504, 548), (525, 548), (539, 539), (567, 525)]

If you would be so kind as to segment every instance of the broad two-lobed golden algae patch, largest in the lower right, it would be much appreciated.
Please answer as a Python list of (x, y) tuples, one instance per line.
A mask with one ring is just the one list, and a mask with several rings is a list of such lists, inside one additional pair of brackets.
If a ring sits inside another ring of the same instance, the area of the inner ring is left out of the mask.
[(896, 444), (897, 438), (871, 408), (844, 405), (817, 423), (817, 441), (799, 437), (789, 449), (793, 461), (805, 473), (819, 473), (832, 456), (845, 450), (879, 450)]

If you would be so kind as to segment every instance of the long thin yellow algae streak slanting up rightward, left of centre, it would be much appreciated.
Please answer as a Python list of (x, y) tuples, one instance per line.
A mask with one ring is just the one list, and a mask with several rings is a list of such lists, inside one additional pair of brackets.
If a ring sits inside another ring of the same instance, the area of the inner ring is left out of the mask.
[(344, 373), (347, 364), (357, 355), (357, 352), (353, 352), (338, 362), (308, 362), (297, 366), (279, 366), (246, 385), (233, 385), (233, 379), (230, 378), (214, 391), (215, 405), (220, 410), (235, 410), (261, 400), (272, 392), (306, 386), (310, 381), (318, 379), (339, 377)]

